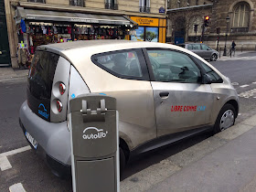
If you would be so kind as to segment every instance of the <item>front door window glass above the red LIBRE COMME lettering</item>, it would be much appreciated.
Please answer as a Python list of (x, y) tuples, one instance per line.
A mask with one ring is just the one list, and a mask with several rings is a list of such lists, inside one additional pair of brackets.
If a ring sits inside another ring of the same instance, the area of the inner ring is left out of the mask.
[(160, 49), (147, 50), (156, 81), (190, 82), (201, 80), (200, 69), (186, 54)]

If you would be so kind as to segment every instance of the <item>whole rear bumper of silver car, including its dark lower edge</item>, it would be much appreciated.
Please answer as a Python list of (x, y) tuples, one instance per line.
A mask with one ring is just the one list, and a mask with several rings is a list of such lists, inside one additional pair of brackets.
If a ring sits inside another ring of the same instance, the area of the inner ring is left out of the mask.
[[(56, 176), (70, 175), (70, 134), (67, 122), (48, 123), (32, 112), (25, 101), (19, 111), (19, 123), (24, 133), (28, 132), (36, 141), (37, 149)], [(27, 137), (26, 137), (27, 138)]]

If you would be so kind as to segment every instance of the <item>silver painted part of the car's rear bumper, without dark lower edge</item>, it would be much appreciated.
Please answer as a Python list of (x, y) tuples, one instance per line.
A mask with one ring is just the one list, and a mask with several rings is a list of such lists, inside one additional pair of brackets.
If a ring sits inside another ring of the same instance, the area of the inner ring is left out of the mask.
[(70, 142), (67, 122), (49, 123), (32, 112), (25, 101), (20, 108), (19, 118), (26, 131), (47, 152), (65, 165), (71, 165)]

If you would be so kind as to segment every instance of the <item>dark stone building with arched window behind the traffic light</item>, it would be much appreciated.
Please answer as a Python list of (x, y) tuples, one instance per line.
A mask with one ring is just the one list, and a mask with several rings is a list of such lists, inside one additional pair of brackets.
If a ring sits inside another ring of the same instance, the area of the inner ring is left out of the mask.
[[(256, 0), (170, 0), (167, 5), (167, 42), (195, 42), (201, 40), (205, 16), (209, 26), (204, 30), (204, 43), (212, 48), (227, 47), (234, 40), (237, 49), (256, 47)], [(197, 25), (197, 33), (195, 32)]]

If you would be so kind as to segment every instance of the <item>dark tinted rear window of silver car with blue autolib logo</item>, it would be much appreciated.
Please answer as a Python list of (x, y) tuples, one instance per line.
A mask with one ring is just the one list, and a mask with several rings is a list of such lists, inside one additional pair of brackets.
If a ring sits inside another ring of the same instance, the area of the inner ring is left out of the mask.
[[(49, 120), (50, 98), (55, 69), (59, 55), (37, 51), (31, 63), (27, 80), (27, 102), (32, 112), (43, 119)], [(43, 113), (42, 112), (42, 110)], [(41, 114), (44, 115), (41, 115)]]

